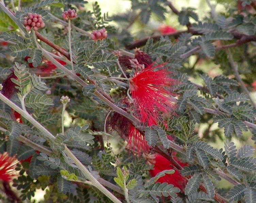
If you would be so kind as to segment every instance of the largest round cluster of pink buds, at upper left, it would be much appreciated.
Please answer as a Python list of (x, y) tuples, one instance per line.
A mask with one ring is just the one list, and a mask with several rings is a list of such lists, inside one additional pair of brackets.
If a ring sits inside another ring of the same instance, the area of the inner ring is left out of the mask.
[(23, 25), (26, 27), (27, 31), (29, 31), (31, 28), (34, 31), (37, 31), (38, 28), (45, 27), (45, 23), (43, 22), (42, 16), (37, 15), (36, 13), (28, 13), (28, 16), (24, 18)]

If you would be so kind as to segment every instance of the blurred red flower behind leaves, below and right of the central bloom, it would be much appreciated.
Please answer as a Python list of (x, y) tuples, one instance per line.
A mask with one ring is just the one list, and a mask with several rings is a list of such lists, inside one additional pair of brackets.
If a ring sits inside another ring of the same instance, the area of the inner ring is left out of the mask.
[[(182, 167), (188, 165), (187, 163), (182, 163), (182, 162), (178, 161), (176, 156), (174, 156), (173, 158)], [(173, 164), (169, 160), (167, 160), (166, 158), (164, 158), (163, 156), (161, 156), (159, 154), (154, 154), (154, 155), (148, 156), (147, 163), (154, 164), (153, 169), (149, 170), (149, 174), (152, 177), (155, 177), (159, 172), (161, 172), (163, 170), (174, 169)], [(181, 192), (184, 191), (184, 188), (187, 184), (186, 178), (181, 176), (181, 174), (177, 170), (175, 170), (174, 174), (166, 174), (165, 176), (159, 178), (157, 180), (157, 182), (160, 182), (160, 183), (166, 182), (168, 184), (173, 184), (174, 187), (178, 187)]]

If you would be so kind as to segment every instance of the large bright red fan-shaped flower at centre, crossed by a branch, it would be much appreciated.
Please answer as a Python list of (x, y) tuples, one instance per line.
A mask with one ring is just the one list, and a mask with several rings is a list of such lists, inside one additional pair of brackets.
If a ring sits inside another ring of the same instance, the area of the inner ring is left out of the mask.
[[(162, 67), (163, 64), (153, 67), (153, 63), (143, 70), (136, 71), (130, 79), (130, 90), (134, 104), (134, 116), (141, 122), (156, 125), (161, 121), (161, 114), (170, 113), (175, 107), (171, 85), (175, 80), (170, 78), (170, 71)], [(157, 68), (159, 68), (157, 70)], [(148, 146), (141, 133), (130, 126), (128, 147), (140, 153), (147, 152)]]

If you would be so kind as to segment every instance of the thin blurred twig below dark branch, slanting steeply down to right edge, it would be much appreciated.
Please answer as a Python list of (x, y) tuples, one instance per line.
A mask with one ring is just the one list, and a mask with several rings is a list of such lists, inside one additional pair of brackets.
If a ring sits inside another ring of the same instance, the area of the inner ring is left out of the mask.
[(235, 63), (235, 61), (234, 61), (234, 59), (233, 59), (233, 56), (232, 56), (230, 50), (227, 49), (226, 52), (227, 52), (227, 55), (228, 55), (229, 63), (230, 63), (230, 65), (231, 65), (231, 67), (232, 67), (232, 69), (233, 69), (233, 71), (234, 71), (234, 74), (235, 74), (236, 79), (237, 79), (237, 80), (239, 81), (239, 83), (241, 84), (241, 87), (242, 87), (244, 93), (245, 93), (246, 95), (248, 95), (248, 97), (249, 97), (249, 99), (251, 100), (253, 106), (256, 108), (256, 103), (253, 101), (253, 98), (251, 97), (249, 90), (246, 88), (246, 86), (245, 86), (243, 80), (241, 79), (241, 77), (240, 77), (240, 75), (239, 75), (238, 66), (237, 66), (237, 64)]

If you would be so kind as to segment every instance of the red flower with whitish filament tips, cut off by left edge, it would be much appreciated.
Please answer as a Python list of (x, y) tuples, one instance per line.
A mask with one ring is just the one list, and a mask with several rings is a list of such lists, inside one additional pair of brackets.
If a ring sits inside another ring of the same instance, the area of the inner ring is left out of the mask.
[(15, 170), (18, 160), (15, 157), (9, 157), (7, 152), (0, 154), (0, 180), (11, 181), (18, 175)]

